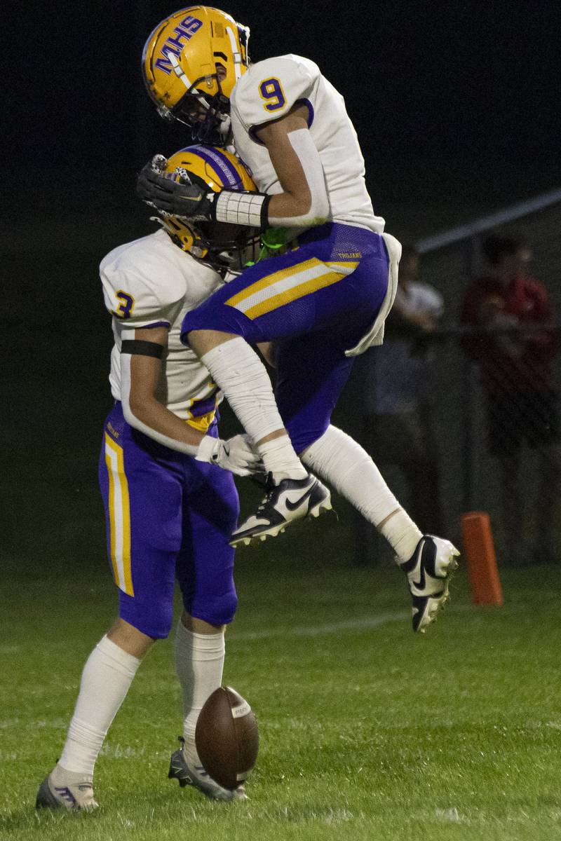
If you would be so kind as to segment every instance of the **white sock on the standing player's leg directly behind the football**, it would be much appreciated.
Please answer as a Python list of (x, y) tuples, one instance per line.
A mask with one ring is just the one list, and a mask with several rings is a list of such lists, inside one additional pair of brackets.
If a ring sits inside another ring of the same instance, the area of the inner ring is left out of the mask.
[(222, 683), (225, 641), (222, 632), (193, 633), (177, 622), (175, 666), (183, 690), (183, 737), (185, 754), (190, 763), (199, 765), (195, 748), (195, 727), (204, 701)]

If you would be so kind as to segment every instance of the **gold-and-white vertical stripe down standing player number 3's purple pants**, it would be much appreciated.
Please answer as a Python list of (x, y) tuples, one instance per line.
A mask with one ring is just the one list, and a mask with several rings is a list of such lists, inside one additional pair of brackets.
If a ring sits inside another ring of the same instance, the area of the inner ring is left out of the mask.
[(107, 432), (105, 463), (109, 479), (109, 531), (115, 584), (127, 595), (135, 595), (130, 569), (129, 484), (124, 473), (123, 448)]

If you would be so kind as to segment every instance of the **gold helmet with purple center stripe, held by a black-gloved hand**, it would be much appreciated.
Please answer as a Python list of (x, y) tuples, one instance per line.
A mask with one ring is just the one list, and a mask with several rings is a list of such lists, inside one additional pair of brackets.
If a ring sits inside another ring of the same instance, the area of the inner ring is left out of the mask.
[[(214, 146), (199, 144), (181, 149), (168, 158), (162, 174), (174, 180), (188, 179), (214, 193), (223, 188), (257, 190), (240, 159)], [(239, 271), (248, 260), (255, 260), (259, 247), (258, 230), (223, 222), (193, 222), (163, 212), (156, 219), (176, 246), (218, 272)]]

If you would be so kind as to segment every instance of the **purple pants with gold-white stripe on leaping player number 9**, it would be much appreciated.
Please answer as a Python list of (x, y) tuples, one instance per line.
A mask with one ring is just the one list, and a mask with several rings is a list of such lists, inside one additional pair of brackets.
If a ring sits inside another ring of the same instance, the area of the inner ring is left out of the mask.
[(373, 325), (388, 288), (384, 238), (330, 223), (299, 237), (298, 246), (241, 272), (189, 312), (192, 330), (242, 336), (277, 347), (275, 398), (294, 449), (323, 435), (351, 373), (345, 351)]

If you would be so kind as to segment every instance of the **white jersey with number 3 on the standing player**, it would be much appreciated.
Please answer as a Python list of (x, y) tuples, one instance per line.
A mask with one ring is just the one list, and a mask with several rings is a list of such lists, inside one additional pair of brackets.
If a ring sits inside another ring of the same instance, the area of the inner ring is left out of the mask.
[(222, 285), (220, 275), (181, 251), (163, 230), (110, 251), (99, 271), (105, 306), (113, 315), (109, 382), (114, 399), (121, 399), (121, 341), (134, 339), (136, 328), (167, 326), (156, 397), (182, 420), (205, 431), (222, 393), (198, 357), (182, 344), (180, 332), (185, 314)]

